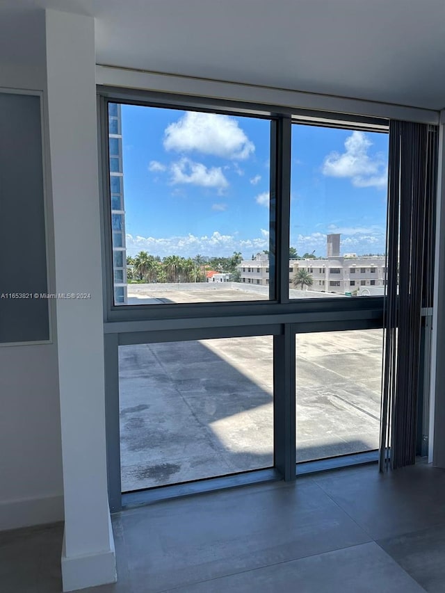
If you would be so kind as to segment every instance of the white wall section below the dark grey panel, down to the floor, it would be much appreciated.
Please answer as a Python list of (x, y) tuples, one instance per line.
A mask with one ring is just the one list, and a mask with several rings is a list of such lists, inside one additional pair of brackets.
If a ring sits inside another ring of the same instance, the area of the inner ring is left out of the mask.
[(55, 345), (0, 348), (0, 529), (63, 519)]

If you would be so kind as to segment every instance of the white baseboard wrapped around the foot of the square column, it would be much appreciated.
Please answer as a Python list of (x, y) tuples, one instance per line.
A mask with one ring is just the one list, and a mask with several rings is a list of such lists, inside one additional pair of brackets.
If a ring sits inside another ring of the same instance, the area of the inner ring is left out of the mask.
[(62, 581), (64, 592), (115, 583), (117, 580), (118, 575), (116, 572), (116, 555), (111, 519), (109, 549), (106, 551), (67, 558), (65, 536), (63, 537)]

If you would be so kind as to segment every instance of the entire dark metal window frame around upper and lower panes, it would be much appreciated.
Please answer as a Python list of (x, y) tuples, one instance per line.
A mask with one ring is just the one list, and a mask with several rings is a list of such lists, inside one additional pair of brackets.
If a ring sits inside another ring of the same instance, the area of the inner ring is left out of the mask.
[[(269, 262), (270, 300), (162, 305), (114, 304), (108, 102), (264, 117), (270, 120), (270, 222), (273, 221), (275, 225), (275, 260), (270, 259)], [(311, 119), (304, 119), (309, 115)], [(303, 119), (299, 120), (299, 116)], [(329, 123), (325, 121), (327, 119)], [(388, 120), (373, 117), (309, 112), (208, 97), (188, 97), (113, 87), (98, 88), (108, 492), (112, 512), (122, 509), (126, 504), (120, 492), (119, 346), (160, 341), (273, 335), (275, 467), (270, 479), (290, 481), (296, 479), (298, 472), (295, 454), (296, 334), (383, 327), (383, 296), (350, 298), (345, 295), (337, 298), (300, 300), (289, 298), (289, 274), (294, 271), (293, 267), (289, 266), (291, 130), (293, 125), (299, 123), (382, 133), (387, 133), (389, 129)], [(254, 481), (252, 476), (250, 473), (251, 482)], [(239, 485), (243, 483), (243, 479), (236, 476), (234, 485), (235, 482)], [(227, 479), (224, 483), (227, 483)], [(174, 487), (165, 487), (169, 488)], [(147, 497), (149, 498), (148, 494)], [(144, 500), (147, 500), (147, 497)], [(140, 498), (138, 500), (140, 501)]]

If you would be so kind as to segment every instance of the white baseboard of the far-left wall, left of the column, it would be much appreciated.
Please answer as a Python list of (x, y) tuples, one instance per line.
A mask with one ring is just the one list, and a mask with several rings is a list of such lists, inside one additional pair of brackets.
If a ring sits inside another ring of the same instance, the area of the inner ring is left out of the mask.
[(63, 496), (0, 502), (0, 531), (63, 521)]

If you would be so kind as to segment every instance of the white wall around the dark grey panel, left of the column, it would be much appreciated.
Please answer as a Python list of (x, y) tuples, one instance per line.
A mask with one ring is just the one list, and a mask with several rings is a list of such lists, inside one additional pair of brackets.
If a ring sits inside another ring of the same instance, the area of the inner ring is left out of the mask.
[[(43, 11), (1, 20), (0, 90), (44, 92), (44, 44)], [(51, 204), (48, 206), (49, 282), (54, 286)], [(62, 520), (55, 341), (31, 346), (0, 346), (0, 403), (0, 530)]]

